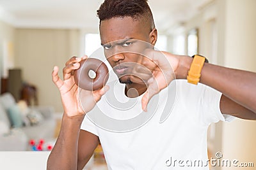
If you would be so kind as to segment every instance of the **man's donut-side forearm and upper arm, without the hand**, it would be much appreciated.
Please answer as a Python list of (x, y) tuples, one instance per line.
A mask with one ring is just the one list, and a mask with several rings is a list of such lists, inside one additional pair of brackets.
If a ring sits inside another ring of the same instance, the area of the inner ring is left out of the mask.
[(68, 118), (63, 115), (61, 131), (49, 155), (47, 169), (83, 169), (90, 160), (99, 145), (99, 138), (80, 130), (82, 121), (83, 116)]

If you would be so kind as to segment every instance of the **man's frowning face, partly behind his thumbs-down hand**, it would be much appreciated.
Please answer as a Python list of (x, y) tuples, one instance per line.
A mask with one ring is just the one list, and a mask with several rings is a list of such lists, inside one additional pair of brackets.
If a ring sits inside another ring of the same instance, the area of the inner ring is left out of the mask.
[(100, 39), (106, 59), (121, 83), (143, 83), (141, 78), (129, 73), (135, 65), (147, 60), (138, 53), (156, 43), (156, 29), (151, 30), (145, 25), (148, 24), (143, 20), (131, 17), (111, 18), (100, 23)]

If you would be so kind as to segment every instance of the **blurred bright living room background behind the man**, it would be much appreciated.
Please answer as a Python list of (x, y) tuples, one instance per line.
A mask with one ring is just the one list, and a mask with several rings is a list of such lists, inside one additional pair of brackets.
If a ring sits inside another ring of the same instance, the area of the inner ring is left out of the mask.
[[(63, 110), (51, 80), (52, 69), (60, 67), (62, 77), (61, 68), (70, 57), (90, 55), (100, 48), (96, 10), (101, 3), (0, 0), (2, 151), (36, 150), (29, 144), (31, 139), (54, 145)], [(256, 72), (255, 0), (149, 0), (149, 4), (159, 33), (159, 50), (179, 55), (198, 53), (212, 64)], [(13, 113), (17, 110), (23, 114), (22, 121), (26, 112), (28, 122), (17, 123)], [(215, 154), (221, 152), (223, 159), (256, 166), (255, 129), (256, 122), (239, 118), (232, 123), (212, 124), (207, 139), (209, 157), (216, 159)], [(24, 145), (15, 146), (17, 140)], [(102, 156), (100, 148), (96, 152)]]

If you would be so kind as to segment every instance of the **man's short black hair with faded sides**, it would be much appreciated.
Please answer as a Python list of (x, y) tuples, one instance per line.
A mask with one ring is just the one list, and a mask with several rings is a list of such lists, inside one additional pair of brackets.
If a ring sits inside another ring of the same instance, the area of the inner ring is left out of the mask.
[(150, 21), (151, 29), (155, 27), (147, 0), (105, 0), (97, 10), (97, 15), (100, 22), (115, 17), (131, 17), (134, 20), (144, 18)]

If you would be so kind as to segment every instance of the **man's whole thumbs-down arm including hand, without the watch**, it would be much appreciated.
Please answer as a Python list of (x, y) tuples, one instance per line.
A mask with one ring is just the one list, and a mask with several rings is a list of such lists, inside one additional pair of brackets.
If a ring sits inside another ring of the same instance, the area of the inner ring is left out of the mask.
[[(145, 56), (154, 61), (157, 67), (153, 71), (154, 80), (148, 80), (148, 90), (142, 98), (143, 109), (147, 109), (152, 96), (167, 87), (172, 80), (186, 79), (193, 60), (189, 56), (155, 50), (148, 50)], [(256, 120), (256, 73), (205, 63), (200, 83), (223, 94), (220, 101), (221, 113)]]

